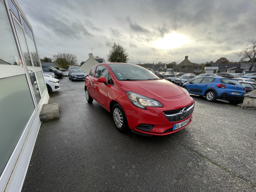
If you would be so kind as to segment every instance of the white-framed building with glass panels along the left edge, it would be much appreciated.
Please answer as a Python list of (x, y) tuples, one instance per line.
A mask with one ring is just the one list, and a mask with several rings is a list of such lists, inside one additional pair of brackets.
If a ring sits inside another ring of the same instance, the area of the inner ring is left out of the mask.
[(21, 191), (48, 102), (31, 25), (16, 0), (0, 0), (0, 192)]

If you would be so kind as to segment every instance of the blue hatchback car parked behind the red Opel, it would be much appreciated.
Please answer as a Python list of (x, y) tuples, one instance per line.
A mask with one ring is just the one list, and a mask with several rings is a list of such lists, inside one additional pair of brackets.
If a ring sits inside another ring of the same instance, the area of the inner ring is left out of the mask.
[(182, 85), (189, 93), (201, 95), (207, 101), (228, 100), (239, 104), (244, 100), (245, 88), (236, 80), (225, 77), (199, 77)]

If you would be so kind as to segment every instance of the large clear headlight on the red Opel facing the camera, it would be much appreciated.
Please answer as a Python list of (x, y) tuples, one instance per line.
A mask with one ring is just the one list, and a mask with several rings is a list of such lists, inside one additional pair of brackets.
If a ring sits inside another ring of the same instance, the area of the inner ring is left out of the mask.
[(138, 108), (146, 109), (146, 107), (163, 107), (159, 101), (149, 97), (145, 97), (131, 91), (126, 92), (126, 94), (132, 104)]

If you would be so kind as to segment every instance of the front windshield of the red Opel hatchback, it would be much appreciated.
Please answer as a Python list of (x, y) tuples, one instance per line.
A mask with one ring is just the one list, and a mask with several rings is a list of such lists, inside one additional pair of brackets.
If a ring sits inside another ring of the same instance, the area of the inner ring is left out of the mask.
[(119, 81), (161, 79), (146, 68), (134, 64), (109, 64)]

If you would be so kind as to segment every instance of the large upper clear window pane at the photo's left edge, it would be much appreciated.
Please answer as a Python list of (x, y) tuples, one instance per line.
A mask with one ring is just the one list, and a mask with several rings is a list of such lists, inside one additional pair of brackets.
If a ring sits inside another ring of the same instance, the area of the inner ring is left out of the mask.
[[(4, 5), (0, 3), (0, 64), (18, 65), (20, 54)], [(17, 59), (16, 59), (17, 58)]]

